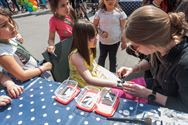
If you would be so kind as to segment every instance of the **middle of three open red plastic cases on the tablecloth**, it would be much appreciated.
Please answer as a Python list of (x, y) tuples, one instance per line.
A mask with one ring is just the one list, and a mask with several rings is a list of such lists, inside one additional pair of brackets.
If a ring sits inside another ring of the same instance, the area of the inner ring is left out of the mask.
[(100, 94), (100, 89), (93, 86), (86, 86), (76, 99), (77, 107), (81, 110), (92, 112)]

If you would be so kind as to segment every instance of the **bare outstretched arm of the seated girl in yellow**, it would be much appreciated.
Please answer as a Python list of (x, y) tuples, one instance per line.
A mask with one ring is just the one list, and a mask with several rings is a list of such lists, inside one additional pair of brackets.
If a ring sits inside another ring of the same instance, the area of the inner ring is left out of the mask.
[(93, 77), (87, 67), (83, 64), (83, 58), (78, 53), (72, 54), (70, 56), (70, 61), (76, 66), (79, 74), (88, 84), (102, 87), (117, 87), (117, 83)]

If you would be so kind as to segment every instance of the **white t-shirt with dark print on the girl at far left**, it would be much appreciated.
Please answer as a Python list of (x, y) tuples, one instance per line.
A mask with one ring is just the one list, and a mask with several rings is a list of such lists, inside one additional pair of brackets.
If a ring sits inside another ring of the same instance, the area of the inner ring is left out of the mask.
[(15, 38), (9, 40), (8, 44), (0, 43), (0, 56), (10, 55), (13, 56), (16, 62), (24, 69), (35, 68), (38, 66), (36, 59), (27, 53), (21, 47)]

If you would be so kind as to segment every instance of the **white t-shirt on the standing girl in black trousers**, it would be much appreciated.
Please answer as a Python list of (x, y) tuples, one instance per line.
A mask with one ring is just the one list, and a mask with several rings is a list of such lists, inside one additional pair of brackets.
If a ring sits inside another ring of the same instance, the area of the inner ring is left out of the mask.
[(99, 36), (102, 44), (112, 45), (121, 41), (120, 20), (126, 19), (127, 15), (120, 9), (114, 9), (111, 12), (99, 9), (94, 19), (99, 19), (99, 28), (108, 33), (108, 38)]

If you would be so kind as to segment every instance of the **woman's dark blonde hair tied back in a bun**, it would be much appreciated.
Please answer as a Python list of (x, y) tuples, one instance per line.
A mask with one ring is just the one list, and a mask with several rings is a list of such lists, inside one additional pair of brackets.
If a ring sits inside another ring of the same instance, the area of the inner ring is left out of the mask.
[(188, 24), (183, 13), (165, 13), (154, 6), (143, 6), (128, 18), (125, 35), (128, 40), (143, 45), (164, 47), (175, 38), (183, 37)]

